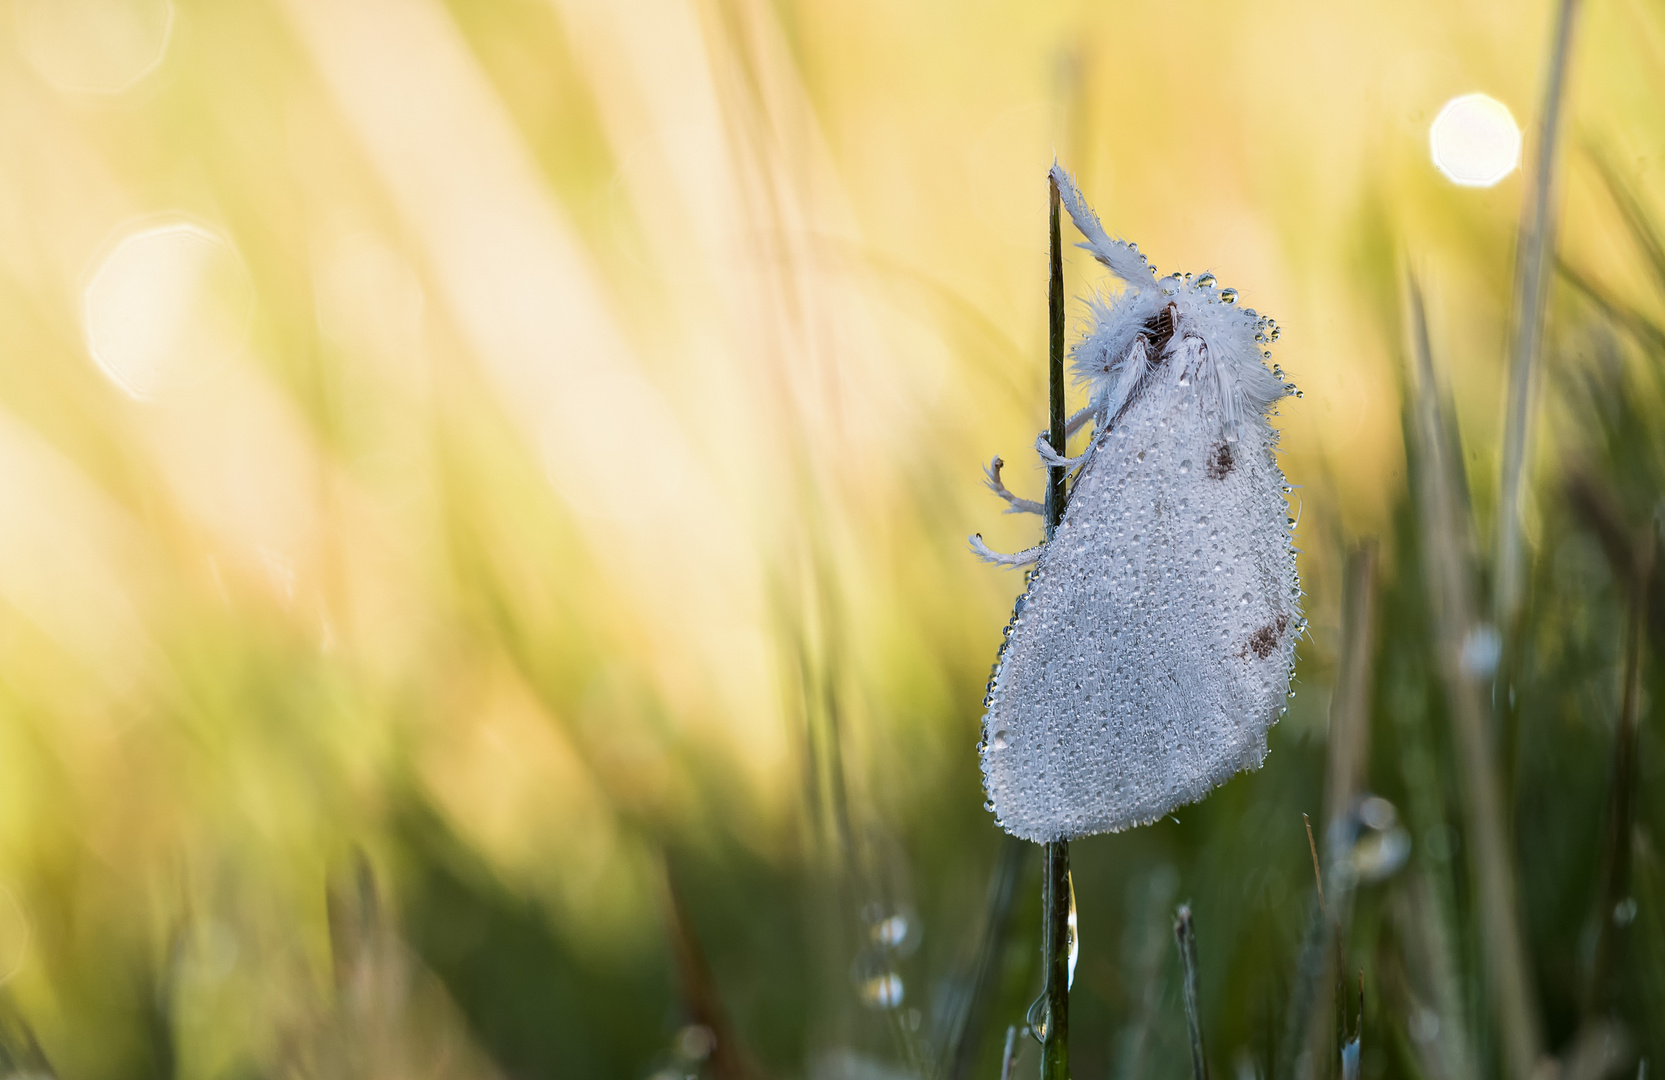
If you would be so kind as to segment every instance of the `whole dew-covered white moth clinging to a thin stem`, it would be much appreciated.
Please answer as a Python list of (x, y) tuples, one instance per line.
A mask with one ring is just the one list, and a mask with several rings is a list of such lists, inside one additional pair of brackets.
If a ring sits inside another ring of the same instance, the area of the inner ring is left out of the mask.
[[(1284, 712), (1300, 617), (1287, 486), (1267, 369), (1270, 320), (1214, 276), (1156, 278), (1111, 240), (1052, 166), (1087, 248), (1126, 286), (1092, 298), (1074, 373), (1092, 424), (1051, 541), (1002, 556), (1034, 564), (989, 681), (982, 775), (1001, 825), (1027, 840), (1117, 832), (1195, 802), (1265, 759)], [(1041, 513), (1001, 483), (1009, 513)]]

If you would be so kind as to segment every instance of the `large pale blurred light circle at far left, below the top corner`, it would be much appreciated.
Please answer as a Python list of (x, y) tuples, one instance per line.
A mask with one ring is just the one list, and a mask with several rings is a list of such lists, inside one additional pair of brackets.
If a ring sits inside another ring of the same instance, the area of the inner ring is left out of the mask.
[(190, 221), (125, 236), (82, 310), (87, 351), (133, 398), (193, 386), (243, 348), (255, 295), (225, 238)]

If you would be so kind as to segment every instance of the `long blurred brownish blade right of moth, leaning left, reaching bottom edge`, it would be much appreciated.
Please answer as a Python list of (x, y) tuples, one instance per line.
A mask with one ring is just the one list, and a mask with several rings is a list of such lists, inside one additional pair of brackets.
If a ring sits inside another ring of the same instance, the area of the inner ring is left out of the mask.
[(1505, 1075), (1530, 1080), (1542, 1037), (1538, 1035), (1537, 993), (1527, 964), (1515, 890), (1513, 859), (1498, 782), (1487, 707), (1477, 671), (1465, 662), (1479, 652), (1482, 627), (1475, 621), (1475, 586), (1464, 559), (1465, 513), (1457, 506), (1452, 476), (1460, 459), (1450, 458), (1444, 431), (1440, 393), (1434, 376), (1427, 313), (1415, 278), (1409, 281), (1410, 334), (1415, 359), (1415, 448), (1417, 498), (1422, 519), (1422, 547), (1429, 607), (1434, 616), (1435, 654), (1445, 682), (1457, 734), (1457, 764), (1469, 857), (1474, 872), (1480, 937), (1485, 952), (1487, 988), (1497, 1037), (1507, 1062)]

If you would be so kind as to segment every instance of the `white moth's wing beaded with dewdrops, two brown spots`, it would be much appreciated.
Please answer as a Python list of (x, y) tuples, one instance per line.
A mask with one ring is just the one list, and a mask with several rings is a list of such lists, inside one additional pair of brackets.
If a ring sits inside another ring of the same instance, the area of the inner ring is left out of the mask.
[(1170, 381), (1097, 436), (1019, 601), (982, 752), (1019, 837), (1146, 824), (1265, 757), (1299, 634), (1284, 476), (1265, 421), (1227, 443), (1212, 404)]

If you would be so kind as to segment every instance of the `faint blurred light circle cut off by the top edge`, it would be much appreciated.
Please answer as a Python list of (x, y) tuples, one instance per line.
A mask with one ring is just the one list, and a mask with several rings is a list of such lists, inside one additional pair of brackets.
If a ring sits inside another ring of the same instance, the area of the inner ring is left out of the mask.
[(170, 0), (18, 0), (23, 55), (57, 90), (120, 93), (162, 63)]

